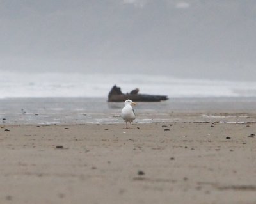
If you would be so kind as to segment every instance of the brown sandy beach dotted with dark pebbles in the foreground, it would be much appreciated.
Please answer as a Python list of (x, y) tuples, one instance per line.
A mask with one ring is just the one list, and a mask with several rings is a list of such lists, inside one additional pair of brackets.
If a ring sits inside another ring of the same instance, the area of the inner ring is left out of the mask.
[(256, 203), (253, 117), (1, 125), (0, 203)]

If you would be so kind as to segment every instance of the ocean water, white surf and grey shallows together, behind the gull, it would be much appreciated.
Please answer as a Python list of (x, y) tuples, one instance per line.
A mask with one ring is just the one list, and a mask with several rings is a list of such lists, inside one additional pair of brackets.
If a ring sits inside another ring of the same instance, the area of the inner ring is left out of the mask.
[(256, 82), (177, 79), (164, 75), (2, 72), (0, 123), (122, 123), (123, 102), (107, 102), (116, 84), (127, 93), (168, 95), (164, 102), (139, 102), (136, 122), (172, 121), (173, 111), (237, 113), (256, 110)]

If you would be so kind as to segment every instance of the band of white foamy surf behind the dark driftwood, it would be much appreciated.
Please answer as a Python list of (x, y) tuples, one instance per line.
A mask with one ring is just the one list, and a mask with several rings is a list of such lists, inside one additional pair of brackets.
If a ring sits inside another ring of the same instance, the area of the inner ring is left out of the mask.
[(106, 97), (116, 84), (124, 93), (169, 97), (255, 97), (256, 82), (177, 79), (166, 75), (1, 72), (0, 98)]

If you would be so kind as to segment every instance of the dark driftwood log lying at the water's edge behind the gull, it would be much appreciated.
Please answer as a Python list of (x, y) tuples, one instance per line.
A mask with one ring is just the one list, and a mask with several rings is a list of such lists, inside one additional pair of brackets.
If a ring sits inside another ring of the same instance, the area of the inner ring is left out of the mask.
[(130, 93), (122, 93), (121, 88), (118, 86), (113, 86), (108, 94), (108, 102), (124, 102), (127, 99), (132, 101), (141, 102), (160, 102), (161, 100), (168, 100), (166, 95), (149, 95), (138, 93), (139, 89), (136, 88)]

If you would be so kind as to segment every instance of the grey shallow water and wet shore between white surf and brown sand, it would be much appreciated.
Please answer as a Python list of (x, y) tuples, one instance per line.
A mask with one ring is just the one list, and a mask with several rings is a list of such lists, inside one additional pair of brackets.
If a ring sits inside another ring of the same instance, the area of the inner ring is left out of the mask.
[[(255, 99), (171, 98), (166, 102), (140, 102), (134, 110), (138, 123), (226, 119), (246, 122), (246, 117), (256, 121)], [(124, 103), (109, 104), (104, 98), (14, 98), (0, 100), (0, 107), (0, 123), (6, 124), (122, 123)]]

